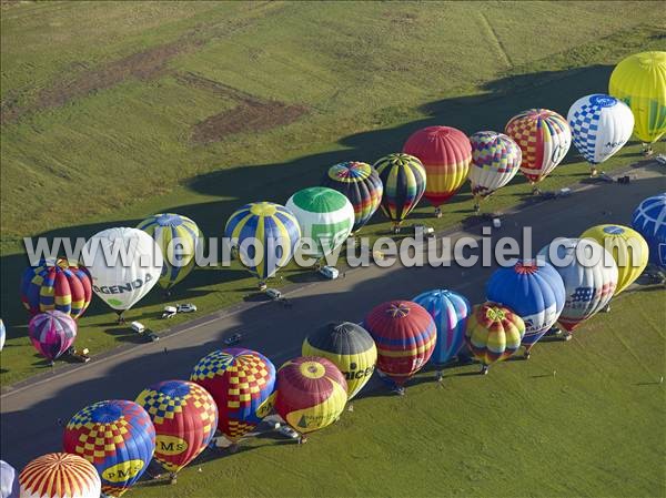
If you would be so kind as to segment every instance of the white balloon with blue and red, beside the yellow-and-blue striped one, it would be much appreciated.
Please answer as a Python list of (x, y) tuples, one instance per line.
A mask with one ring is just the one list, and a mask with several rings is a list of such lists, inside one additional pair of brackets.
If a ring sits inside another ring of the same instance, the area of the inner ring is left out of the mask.
[(558, 322), (568, 339), (578, 325), (610, 302), (617, 286), (617, 265), (604, 247), (585, 238), (556, 238), (537, 257), (551, 263), (564, 282), (566, 301)]

